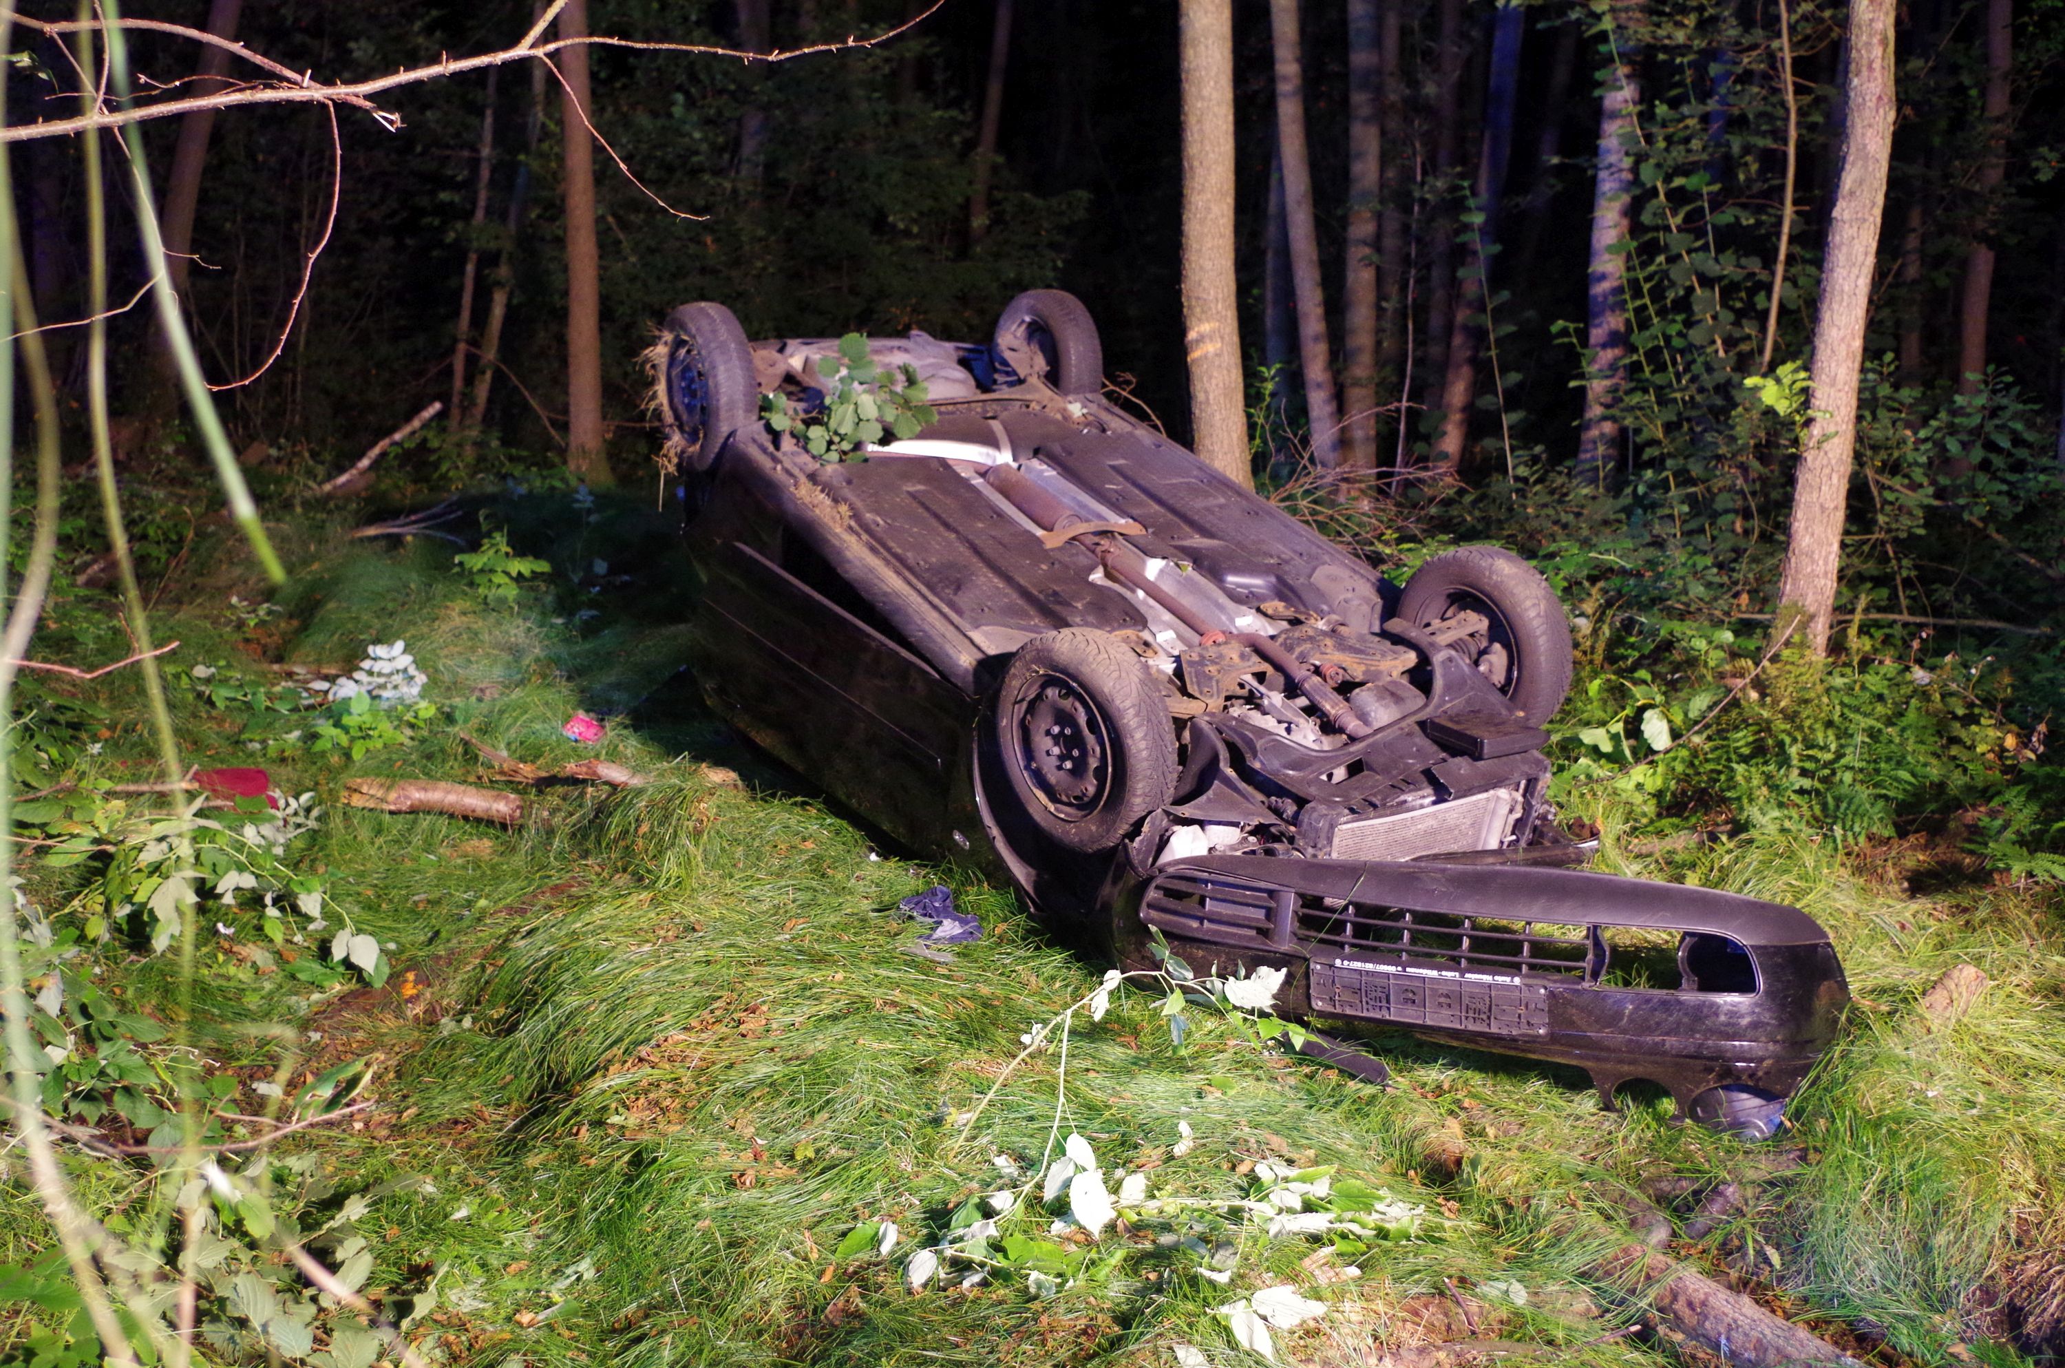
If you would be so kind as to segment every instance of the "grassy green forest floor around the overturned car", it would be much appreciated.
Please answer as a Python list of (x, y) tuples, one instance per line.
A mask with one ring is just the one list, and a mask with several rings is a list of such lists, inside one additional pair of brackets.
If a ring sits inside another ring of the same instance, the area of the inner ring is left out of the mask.
[[(1607, 1201), (1621, 1184), (1677, 1194), (1683, 1219), (1724, 1182), (1741, 1205), (1697, 1238), (1675, 1232), (1673, 1250), (1867, 1362), (2005, 1366), (2026, 1362), (2011, 1331), (2065, 1335), (2055, 897), (1960, 880), (1956, 860), (1904, 845), (1751, 835), (1635, 856), (1611, 806), (1574, 798), (1605, 829), (1598, 868), (1799, 903), (1836, 936), (1856, 1008), (1766, 1147), (1673, 1126), (1660, 1097), (1605, 1112), (1582, 1075), (1404, 1035), (1377, 1044), (1390, 1089), (1264, 1054), (1212, 1017), (1177, 1048), (1161, 1000), (1127, 990), (1103, 1021), (1078, 1017), (1066, 1077), (1053, 1050), (1006, 1070), (1020, 1035), (1090, 994), (1101, 967), (1008, 891), (878, 847), (721, 727), (679, 674), (686, 589), (659, 519), (566, 502), (504, 508), (518, 546), (560, 566), (551, 591), (512, 603), (477, 595), (446, 543), (306, 527), (289, 533), (281, 616), (225, 614), (231, 593), (264, 595), (225, 558), (159, 622), (182, 641), (169, 659), (215, 680), (262, 684), (283, 661), (343, 672), (394, 639), (430, 674), (438, 719), (357, 760), (252, 758), (246, 742), (281, 719), (192, 684), (176, 715), (190, 763), (262, 763), (322, 798), (295, 860), (388, 946), (384, 986), (314, 988), (264, 942), (209, 936), (198, 1008), (217, 1023), (211, 1056), (248, 1079), (271, 1077), (281, 1048), (242, 1029), (256, 1023), (295, 1027), (306, 1077), (376, 1060), (359, 1097), (378, 1106), (287, 1149), (372, 1199), (366, 1285), (432, 1358), (1237, 1364), (1256, 1360), (1214, 1308), (1295, 1285), (1328, 1314), (1278, 1331), (1280, 1362), (1443, 1341), (1567, 1364), (1712, 1362), (1596, 1271), (1586, 1217), (1625, 1223)], [(109, 717), (103, 775), (149, 775), (134, 688), (124, 672), (72, 690)], [(582, 709), (607, 721), (599, 744), (562, 734)], [(512, 831), (339, 802), (347, 777), (479, 781), (473, 742), (545, 769), (601, 756), (653, 781), (541, 787)], [(1923, 897), (1910, 887), (1929, 862), (1939, 891)], [(29, 874), (62, 905), (64, 872)], [(950, 963), (913, 955), (919, 926), (898, 911), (938, 882), (983, 922)], [(1989, 988), (1931, 1023), (1916, 1000), (1958, 963)], [(163, 961), (112, 963), (103, 984), (171, 1011)], [(1002, 1161), (1035, 1170), (1057, 1118), (1154, 1194), (1239, 1201), (1258, 1163), (1334, 1165), (1423, 1213), (1412, 1238), (1359, 1252), (1355, 1277), (1315, 1238), (1237, 1225), (1231, 1250), (1208, 1248), (1231, 1261), (1225, 1283), (1200, 1277), (1181, 1232), (1144, 1230), (1101, 1246), (1121, 1252), (1097, 1277), (1070, 1263), (1080, 1285), (1057, 1277), (1049, 1296), (1020, 1275), (960, 1287), (964, 1269), (909, 1292), (911, 1254), (1008, 1186)], [(43, 1244), (33, 1201), (8, 1188), (0, 1261)], [(1173, 1358), (1179, 1345), (1202, 1358)]]

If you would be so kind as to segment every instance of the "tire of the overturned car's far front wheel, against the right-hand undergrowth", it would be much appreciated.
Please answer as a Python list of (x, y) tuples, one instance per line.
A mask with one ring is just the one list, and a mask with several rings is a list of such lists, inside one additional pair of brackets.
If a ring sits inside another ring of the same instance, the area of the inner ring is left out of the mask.
[(1398, 595), (1398, 616), (1433, 626), (1479, 612), (1489, 628), (1456, 643), (1530, 723), (1545, 725), (1569, 692), (1569, 618), (1540, 570), (1497, 546), (1460, 546), (1425, 562)]

